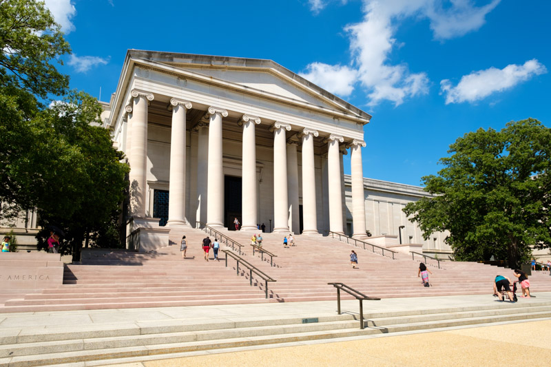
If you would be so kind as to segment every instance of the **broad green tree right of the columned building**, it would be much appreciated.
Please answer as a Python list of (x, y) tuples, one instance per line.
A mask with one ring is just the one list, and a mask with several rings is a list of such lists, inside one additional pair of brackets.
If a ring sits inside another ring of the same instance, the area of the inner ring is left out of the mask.
[(528, 118), (497, 132), (479, 129), (450, 145), (437, 176), (422, 178), (432, 198), (404, 208), (424, 238), (449, 231), (457, 260), (492, 255), (518, 266), (530, 247), (551, 244), (551, 129)]

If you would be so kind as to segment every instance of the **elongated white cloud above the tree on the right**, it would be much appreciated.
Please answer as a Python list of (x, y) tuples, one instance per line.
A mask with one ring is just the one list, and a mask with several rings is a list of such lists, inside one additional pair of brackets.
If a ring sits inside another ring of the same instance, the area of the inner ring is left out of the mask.
[(490, 67), (464, 75), (455, 87), (448, 79), (444, 79), (440, 82), (441, 93), (446, 94), (446, 105), (475, 102), (546, 72), (545, 66), (536, 59), (528, 60), (523, 65), (507, 65), (503, 69)]

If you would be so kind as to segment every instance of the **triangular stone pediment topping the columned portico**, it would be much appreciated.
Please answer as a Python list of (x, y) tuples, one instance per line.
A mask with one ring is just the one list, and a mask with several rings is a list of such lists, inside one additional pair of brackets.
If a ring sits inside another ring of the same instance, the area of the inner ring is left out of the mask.
[(141, 50), (129, 50), (129, 56), (132, 59), (162, 63), (189, 74), (196, 74), (208, 78), (212, 83), (245, 87), (251, 92), (266, 94), (270, 98), (280, 98), (284, 102), (296, 101), (353, 115), (366, 120), (365, 123), (371, 118), (361, 109), (271, 60)]

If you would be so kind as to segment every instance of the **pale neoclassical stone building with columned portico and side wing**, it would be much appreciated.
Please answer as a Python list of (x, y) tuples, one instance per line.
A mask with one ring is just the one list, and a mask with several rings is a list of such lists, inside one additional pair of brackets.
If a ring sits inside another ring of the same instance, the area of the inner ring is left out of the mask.
[(129, 50), (103, 107), (131, 166), (130, 246), (158, 247), (197, 222), (233, 229), (238, 218), (243, 231), (368, 230), (385, 245), (401, 235), (450, 252), (401, 210), (426, 196), (420, 187), (363, 177), (371, 116), (273, 61)]

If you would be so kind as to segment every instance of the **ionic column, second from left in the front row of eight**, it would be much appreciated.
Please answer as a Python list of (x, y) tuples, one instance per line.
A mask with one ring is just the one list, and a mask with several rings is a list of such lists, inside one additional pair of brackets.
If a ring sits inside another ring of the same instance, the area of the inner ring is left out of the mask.
[(185, 115), (191, 108), (188, 101), (172, 98), (172, 128), (170, 136), (170, 176), (167, 226), (183, 227), (185, 218)]

